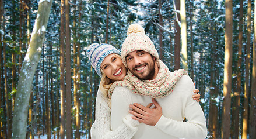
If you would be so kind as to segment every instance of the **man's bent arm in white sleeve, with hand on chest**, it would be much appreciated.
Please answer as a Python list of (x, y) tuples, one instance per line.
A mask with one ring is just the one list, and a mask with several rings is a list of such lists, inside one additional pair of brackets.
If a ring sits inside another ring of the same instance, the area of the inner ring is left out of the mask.
[[(179, 92), (179, 94), (184, 93), (182, 96), (182, 100), (184, 100), (185, 105), (184, 116), (188, 119), (188, 122), (181, 122), (171, 118), (166, 118), (162, 115), (162, 109), (157, 102), (154, 103), (156, 106), (155, 109), (145, 108), (139, 104), (136, 104), (135, 106), (131, 105), (131, 108), (135, 109), (139, 114), (134, 111), (130, 112), (136, 116), (133, 116), (133, 118), (139, 122), (155, 126), (171, 136), (182, 138), (205, 138), (207, 129), (204, 113), (202, 112), (199, 103), (191, 97), (194, 85), (188, 76), (185, 76), (181, 82), (183, 83), (182, 85), (185, 86), (185, 89), (182, 92)], [(149, 119), (154, 120), (153, 122), (150, 122)]]

